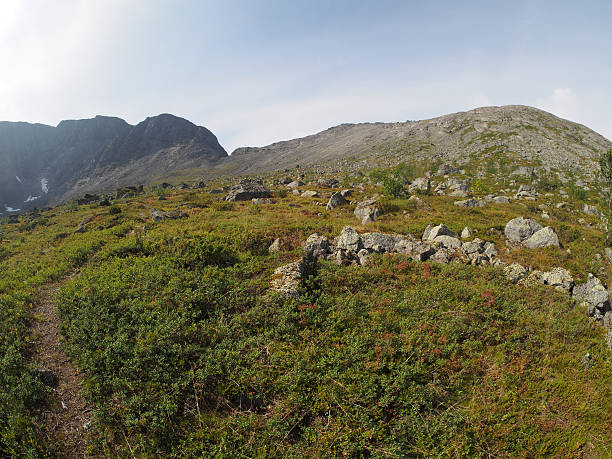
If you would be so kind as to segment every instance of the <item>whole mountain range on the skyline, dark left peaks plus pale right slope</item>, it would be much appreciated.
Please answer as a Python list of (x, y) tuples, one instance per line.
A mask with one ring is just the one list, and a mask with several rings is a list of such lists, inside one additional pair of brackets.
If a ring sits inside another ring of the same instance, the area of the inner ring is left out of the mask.
[[(0, 205), (24, 209), (85, 193), (172, 180), (262, 174), (296, 166), (344, 174), (399, 162), (510, 161), (593, 178), (612, 143), (532, 107), (483, 107), (422, 121), (342, 124), (231, 156), (208, 129), (162, 114), (132, 126), (119, 118), (57, 127), (0, 122)], [(0, 211), (3, 209), (0, 209)]]

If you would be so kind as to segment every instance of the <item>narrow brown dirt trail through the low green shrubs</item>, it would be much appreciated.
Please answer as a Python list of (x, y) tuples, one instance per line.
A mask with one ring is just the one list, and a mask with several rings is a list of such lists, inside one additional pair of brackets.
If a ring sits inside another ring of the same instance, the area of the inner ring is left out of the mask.
[(91, 421), (93, 412), (80, 392), (83, 376), (60, 344), (61, 321), (55, 295), (66, 280), (44, 285), (37, 292), (33, 361), (38, 368), (57, 377), (57, 381), (52, 381), (56, 384), (51, 384), (55, 386), (52, 405), (42, 413), (49, 440), (59, 447), (61, 457), (76, 458), (87, 456), (85, 426)]

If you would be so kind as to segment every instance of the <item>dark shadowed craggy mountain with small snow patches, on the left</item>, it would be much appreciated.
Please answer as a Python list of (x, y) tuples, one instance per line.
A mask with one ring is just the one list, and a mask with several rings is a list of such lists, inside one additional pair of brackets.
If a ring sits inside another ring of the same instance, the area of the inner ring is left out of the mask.
[(27, 209), (144, 184), (226, 156), (208, 129), (169, 114), (136, 126), (105, 116), (57, 127), (0, 122), (0, 205)]

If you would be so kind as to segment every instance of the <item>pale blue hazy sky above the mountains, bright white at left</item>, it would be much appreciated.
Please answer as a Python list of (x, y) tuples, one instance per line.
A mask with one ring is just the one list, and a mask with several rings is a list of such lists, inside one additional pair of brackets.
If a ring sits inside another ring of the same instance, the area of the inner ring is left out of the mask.
[(0, 0), (0, 119), (173, 113), (228, 152), (524, 104), (612, 139), (612, 1)]

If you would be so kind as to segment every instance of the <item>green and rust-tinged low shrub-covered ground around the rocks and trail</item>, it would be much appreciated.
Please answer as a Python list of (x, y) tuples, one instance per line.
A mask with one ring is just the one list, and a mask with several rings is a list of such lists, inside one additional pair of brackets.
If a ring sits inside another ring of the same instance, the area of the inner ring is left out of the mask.
[[(489, 172), (475, 179), (476, 195), (526, 181)], [(45, 417), (57, 393), (36, 371), (36, 292), (74, 271), (56, 304), (94, 408), (87, 454), (610, 457), (612, 353), (603, 329), (559, 292), (511, 285), (496, 268), (400, 255), (366, 267), (323, 262), (297, 299), (269, 291), (273, 270), (297, 259), (309, 234), (336, 236), (347, 224), (415, 235), (429, 223), (469, 225), (504, 261), (606, 279), (603, 235), (581, 212), (595, 196), (565, 199), (559, 183), (540, 183), (535, 202), (479, 209), (447, 196), (421, 196), (428, 210), (386, 199), (367, 227), (354, 205), (325, 211), (325, 197), (277, 191), (274, 204), (255, 205), (208, 189), (141, 195), (116, 203), (120, 213), (67, 205), (4, 224), (1, 451), (62, 455)], [(380, 191), (355, 190), (354, 202)], [(563, 248), (506, 251), (505, 223), (544, 223), (540, 204)], [(188, 218), (153, 222), (150, 208)], [(271, 255), (277, 237), (283, 250)]]

